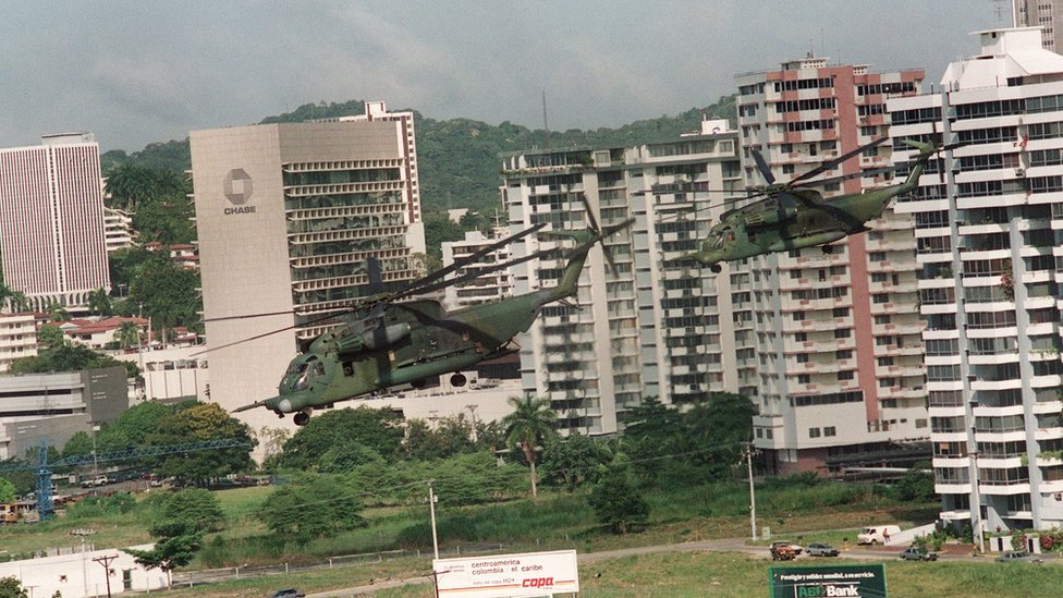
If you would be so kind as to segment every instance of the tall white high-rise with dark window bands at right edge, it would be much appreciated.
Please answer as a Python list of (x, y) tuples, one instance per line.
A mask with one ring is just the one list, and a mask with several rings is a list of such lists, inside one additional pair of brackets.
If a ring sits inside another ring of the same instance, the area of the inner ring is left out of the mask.
[(888, 103), (899, 155), (965, 144), (896, 208), (916, 222), (934, 486), (944, 520), (1047, 528), (1063, 525), (1063, 57), (1036, 27), (978, 36), (941, 93)]

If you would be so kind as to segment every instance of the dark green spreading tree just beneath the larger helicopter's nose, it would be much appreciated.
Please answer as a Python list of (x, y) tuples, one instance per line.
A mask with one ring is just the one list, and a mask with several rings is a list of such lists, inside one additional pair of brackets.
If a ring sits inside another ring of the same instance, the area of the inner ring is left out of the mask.
[(351, 455), (344, 444), (358, 443), (376, 451), (386, 460), (399, 454), (402, 446), (402, 417), (390, 410), (357, 408), (333, 410), (310, 419), (292, 438), (284, 442), (279, 459), (282, 467), (301, 472), (321, 471), (321, 460), (337, 448), (330, 463), (335, 466), (346, 457), (335, 461), (337, 455)]

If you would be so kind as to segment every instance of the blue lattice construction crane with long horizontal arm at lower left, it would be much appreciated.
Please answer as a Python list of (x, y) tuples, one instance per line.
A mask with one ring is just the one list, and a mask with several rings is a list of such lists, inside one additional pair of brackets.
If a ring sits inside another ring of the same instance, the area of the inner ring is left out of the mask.
[(37, 464), (25, 463), (0, 465), (0, 474), (4, 472), (27, 472), (34, 471), (37, 475), (37, 513), (40, 521), (48, 520), (54, 514), (52, 502), (53, 489), (51, 485), (51, 474), (54, 467), (78, 467), (95, 463), (108, 463), (113, 461), (129, 461), (146, 456), (162, 456), (168, 454), (192, 453), (197, 451), (209, 451), (220, 449), (239, 449), (251, 447), (245, 440), (227, 438), (223, 440), (204, 440), (199, 442), (182, 442), (180, 444), (167, 444), (162, 447), (136, 447), (109, 451), (99, 454), (86, 454), (68, 456), (59, 461), (48, 462), (48, 443), (45, 439), (40, 440), (37, 452)]

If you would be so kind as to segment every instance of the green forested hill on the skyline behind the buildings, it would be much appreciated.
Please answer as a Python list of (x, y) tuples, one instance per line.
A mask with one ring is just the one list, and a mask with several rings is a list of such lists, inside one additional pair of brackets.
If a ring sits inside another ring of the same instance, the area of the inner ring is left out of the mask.
[[(403, 109), (405, 110), (405, 109)], [(427, 211), (472, 208), (491, 213), (498, 206), (499, 154), (545, 147), (546, 132), (509, 121), (498, 125), (468, 119), (437, 121), (414, 112), (417, 158), (420, 162), (421, 199)], [(361, 100), (342, 103), (307, 103), (292, 112), (269, 117), (262, 124), (303, 122), (365, 113)], [(693, 108), (676, 115), (637, 121), (620, 129), (550, 132), (550, 147), (633, 146), (673, 139), (696, 131), (702, 117), (734, 119), (734, 96), (724, 96), (706, 108)], [(184, 172), (191, 168), (188, 141), (155, 143), (127, 155), (106, 152), (103, 172), (123, 162)]]

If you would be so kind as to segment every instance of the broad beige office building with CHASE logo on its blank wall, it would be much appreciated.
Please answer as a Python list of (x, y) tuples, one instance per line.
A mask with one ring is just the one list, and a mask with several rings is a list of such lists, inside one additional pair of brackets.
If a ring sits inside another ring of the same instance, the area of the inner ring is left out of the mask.
[[(298, 340), (369, 294), (416, 278), (424, 252), (413, 204), (412, 121), (266, 124), (191, 135), (210, 398), (227, 408), (277, 394)], [(415, 175), (415, 173), (414, 173)], [(242, 318), (241, 316), (271, 314)], [(252, 342), (230, 343), (281, 331)], [(276, 423), (266, 410), (244, 414)]]

